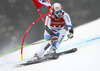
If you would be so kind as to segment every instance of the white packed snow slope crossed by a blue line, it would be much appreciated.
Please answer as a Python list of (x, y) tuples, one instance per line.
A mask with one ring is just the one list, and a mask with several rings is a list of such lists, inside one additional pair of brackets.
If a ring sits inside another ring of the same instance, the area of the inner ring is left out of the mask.
[[(32, 58), (42, 44), (24, 47), (23, 62)], [(0, 71), (100, 71), (100, 18), (74, 28), (73, 39), (61, 43), (57, 52), (71, 48), (78, 51), (57, 60), (23, 67), (16, 67), (21, 63), (20, 50), (17, 50), (0, 57)]]

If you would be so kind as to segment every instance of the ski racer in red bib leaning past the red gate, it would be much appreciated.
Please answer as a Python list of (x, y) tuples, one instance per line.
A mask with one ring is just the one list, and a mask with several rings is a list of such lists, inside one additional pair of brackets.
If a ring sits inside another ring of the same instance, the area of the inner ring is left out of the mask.
[(60, 3), (54, 3), (51, 7), (51, 13), (46, 16), (44, 31), (45, 40), (51, 41), (45, 42), (31, 61), (38, 60), (48, 48), (49, 53), (56, 53), (56, 49), (66, 35), (65, 25), (69, 31), (68, 38), (73, 38), (73, 27), (69, 15), (63, 11)]

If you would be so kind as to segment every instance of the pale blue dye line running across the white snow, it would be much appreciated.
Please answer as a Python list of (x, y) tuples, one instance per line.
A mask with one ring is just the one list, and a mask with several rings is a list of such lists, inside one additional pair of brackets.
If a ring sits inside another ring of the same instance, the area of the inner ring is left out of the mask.
[[(84, 41), (79, 41), (79, 42), (77, 42), (77, 43), (74, 43), (74, 44), (69, 44), (69, 45), (66, 45), (67, 46), (67, 48), (69, 47), (69, 49), (71, 48), (71, 47), (76, 47), (76, 46), (78, 46), (77, 48), (81, 48), (79, 45), (82, 45), (82, 44), (84, 44), (84, 45), (86, 45), (87, 43), (93, 43), (93, 42), (96, 42), (96, 41), (100, 41), (100, 37), (94, 37), (94, 38), (91, 38), (91, 39), (86, 39), (86, 40), (84, 40)], [(62, 47), (62, 50), (66, 50), (66, 46), (63, 46)], [(58, 51), (60, 51), (61, 52), (61, 50), (58, 50)], [(31, 57), (30, 57), (31, 58)], [(26, 59), (24, 59), (24, 61), (27, 61), (27, 60), (29, 60), (30, 58), (26, 58)], [(0, 64), (0, 67), (1, 66), (3, 66), (3, 65), (5, 65), (5, 64), (16, 64), (16, 63), (20, 63), (20, 60), (18, 60), (18, 61), (10, 61), (10, 62), (6, 62), (6, 63), (4, 63), (4, 64)]]

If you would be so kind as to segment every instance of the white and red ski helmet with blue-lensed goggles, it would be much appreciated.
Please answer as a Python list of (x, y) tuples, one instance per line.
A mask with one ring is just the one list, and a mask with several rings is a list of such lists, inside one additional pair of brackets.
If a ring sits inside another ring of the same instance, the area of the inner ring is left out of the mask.
[(60, 3), (54, 3), (51, 8), (56, 15), (63, 12), (62, 5)]

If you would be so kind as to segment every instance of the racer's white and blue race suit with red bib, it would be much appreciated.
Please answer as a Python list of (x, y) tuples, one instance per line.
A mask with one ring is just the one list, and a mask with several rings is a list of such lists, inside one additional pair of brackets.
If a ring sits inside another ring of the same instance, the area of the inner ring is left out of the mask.
[[(38, 56), (42, 56), (44, 52), (50, 48), (54, 47), (55, 49), (58, 48), (60, 42), (66, 35), (66, 30), (64, 29), (65, 25), (67, 26), (68, 30), (72, 29), (72, 24), (69, 15), (63, 11), (61, 18), (56, 18), (54, 13), (49, 14), (46, 16), (45, 25), (48, 26), (49, 29), (53, 31), (58, 37), (58, 42), (45, 42), (44, 45), (37, 51)], [(44, 32), (45, 40), (52, 40), (51, 35), (45, 30)]]

